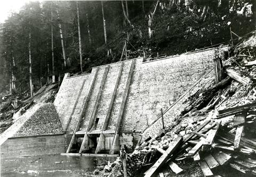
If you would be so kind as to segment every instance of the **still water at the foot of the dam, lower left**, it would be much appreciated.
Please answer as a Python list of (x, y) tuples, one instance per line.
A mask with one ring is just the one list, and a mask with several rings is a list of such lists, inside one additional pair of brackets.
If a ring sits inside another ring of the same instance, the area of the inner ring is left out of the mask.
[(92, 176), (97, 165), (114, 160), (60, 154), (5, 158), (1, 159), (1, 176)]

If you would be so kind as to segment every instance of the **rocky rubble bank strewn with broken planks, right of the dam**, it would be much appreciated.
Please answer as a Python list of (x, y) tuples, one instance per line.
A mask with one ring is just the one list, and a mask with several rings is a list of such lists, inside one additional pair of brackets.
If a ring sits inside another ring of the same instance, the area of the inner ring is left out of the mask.
[(162, 134), (138, 142), (122, 164), (123, 175), (182, 175), (190, 162), (196, 175), (256, 175), (255, 59), (256, 47), (230, 48), (222, 58), (223, 79), (213, 78), (189, 96), (189, 106)]

